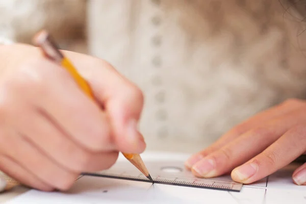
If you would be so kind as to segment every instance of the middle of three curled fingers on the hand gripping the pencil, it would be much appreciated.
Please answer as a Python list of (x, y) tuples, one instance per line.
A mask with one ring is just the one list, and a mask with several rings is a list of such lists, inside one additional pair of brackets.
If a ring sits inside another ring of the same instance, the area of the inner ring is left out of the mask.
[[(19, 118), (20, 119), (20, 118)], [(27, 121), (18, 121), (19, 130), (37, 148), (68, 171), (100, 171), (111, 167), (118, 152), (94, 152), (69, 139), (44, 114), (29, 111)]]

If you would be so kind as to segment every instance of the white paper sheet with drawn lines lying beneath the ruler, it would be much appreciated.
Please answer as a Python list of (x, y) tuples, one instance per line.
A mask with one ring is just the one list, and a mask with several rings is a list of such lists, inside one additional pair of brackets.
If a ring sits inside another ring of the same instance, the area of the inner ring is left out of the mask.
[[(152, 155), (143, 159), (150, 157), (154, 159)], [(173, 161), (173, 158), (177, 157), (163, 154), (165, 161)], [(179, 158), (182, 162), (186, 159)], [(160, 161), (159, 157), (155, 159)], [(244, 185), (240, 192), (83, 176), (66, 193), (30, 190), (7, 203), (306, 203), (306, 186), (297, 186), (292, 182), (294, 168), (289, 166), (259, 182)]]

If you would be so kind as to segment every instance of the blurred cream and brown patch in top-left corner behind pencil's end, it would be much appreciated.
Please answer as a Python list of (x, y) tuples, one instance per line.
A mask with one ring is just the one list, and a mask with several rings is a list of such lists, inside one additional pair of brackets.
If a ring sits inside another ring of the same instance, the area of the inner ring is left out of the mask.
[(1, 0), (0, 35), (32, 44), (33, 35), (47, 29), (62, 49), (88, 53), (86, 0)]

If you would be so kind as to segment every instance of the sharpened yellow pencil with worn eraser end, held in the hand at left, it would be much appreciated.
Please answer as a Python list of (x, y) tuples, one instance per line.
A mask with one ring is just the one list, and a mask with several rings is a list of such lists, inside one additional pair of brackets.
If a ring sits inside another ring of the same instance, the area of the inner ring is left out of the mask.
[[(73, 77), (73, 79), (78, 83), (80, 88), (92, 99), (94, 99), (93, 93), (87, 84), (87, 82), (81, 77), (77, 69), (75, 69), (72, 63), (61, 53), (58, 49), (53, 38), (45, 30), (40, 31), (34, 36), (33, 42), (42, 49), (44, 55), (53, 60), (54, 62), (60, 64), (64, 67)], [(138, 154), (127, 154), (122, 153), (123, 156), (129, 160), (135, 167), (137, 167), (150, 181), (153, 182), (147, 168), (145, 167), (140, 155)]]

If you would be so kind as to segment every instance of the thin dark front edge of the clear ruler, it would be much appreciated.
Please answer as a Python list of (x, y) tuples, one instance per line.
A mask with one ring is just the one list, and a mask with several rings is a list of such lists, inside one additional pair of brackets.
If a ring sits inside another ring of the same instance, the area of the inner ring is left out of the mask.
[[(108, 174), (102, 174), (102, 173), (82, 173), (84, 176), (95, 176), (95, 177), (106, 177), (110, 179), (121, 179), (121, 180), (128, 180), (128, 181), (136, 181), (136, 182), (146, 182), (146, 183), (152, 183), (149, 180), (145, 179), (135, 179), (131, 177), (123, 177), (123, 176), (114, 176), (114, 175), (108, 175)], [(213, 188), (213, 187), (205, 187), (205, 186), (192, 186), (188, 184), (175, 184), (175, 183), (168, 183), (168, 182), (159, 182), (154, 181), (155, 184), (164, 184), (164, 185), (171, 185), (171, 186), (183, 186), (183, 187), (191, 187), (191, 188), (201, 188), (201, 189), (212, 189), (212, 190), (220, 190), (220, 191), (231, 191), (231, 192), (240, 192), (242, 189), (242, 186), (240, 190), (234, 190), (234, 189), (225, 189), (225, 188)]]

